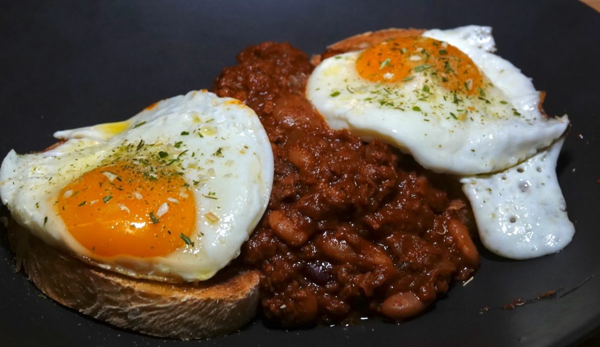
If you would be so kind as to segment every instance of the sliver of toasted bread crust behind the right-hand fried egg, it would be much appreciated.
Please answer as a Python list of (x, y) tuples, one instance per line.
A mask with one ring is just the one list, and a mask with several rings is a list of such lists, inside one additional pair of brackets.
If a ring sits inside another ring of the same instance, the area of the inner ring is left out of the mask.
[(365, 49), (374, 46), (378, 43), (382, 43), (389, 38), (395, 37), (407, 37), (407, 36), (420, 36), (425, 32), (425, 29), (398, 29), (389, 28), (378, 31), (367, 31), (362, 34), (354, 35), (344, 40), (338, 41), (334, 44), (327, 46), (325, 52), (320, 55), (313, 55), (311, 57), (311, 63), (313, 65), (319, 65), (323, 59), (327, 59), (330, 56), (338, 55), (341, 53), (352, 52), (355, 50)]

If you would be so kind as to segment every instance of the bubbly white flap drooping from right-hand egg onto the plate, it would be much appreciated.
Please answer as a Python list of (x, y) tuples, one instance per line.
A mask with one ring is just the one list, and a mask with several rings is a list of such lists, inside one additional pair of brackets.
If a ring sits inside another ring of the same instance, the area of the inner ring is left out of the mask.
[(556, 177), (564, 140), (505, 171), (460, 179), (485, 248), (523, 260), (558, 252), (571, 242), (575, 227)]

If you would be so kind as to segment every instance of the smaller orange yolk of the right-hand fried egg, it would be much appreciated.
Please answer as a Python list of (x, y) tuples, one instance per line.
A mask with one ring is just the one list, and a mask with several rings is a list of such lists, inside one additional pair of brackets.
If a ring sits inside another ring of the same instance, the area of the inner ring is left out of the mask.
[(454, 46), (428, 37), (401, 37), (370, 47), (356, 61), (372, 82), (407, 82), (427, 74), (448, 90), (479, 93), (483, 79), (475, 63)]

